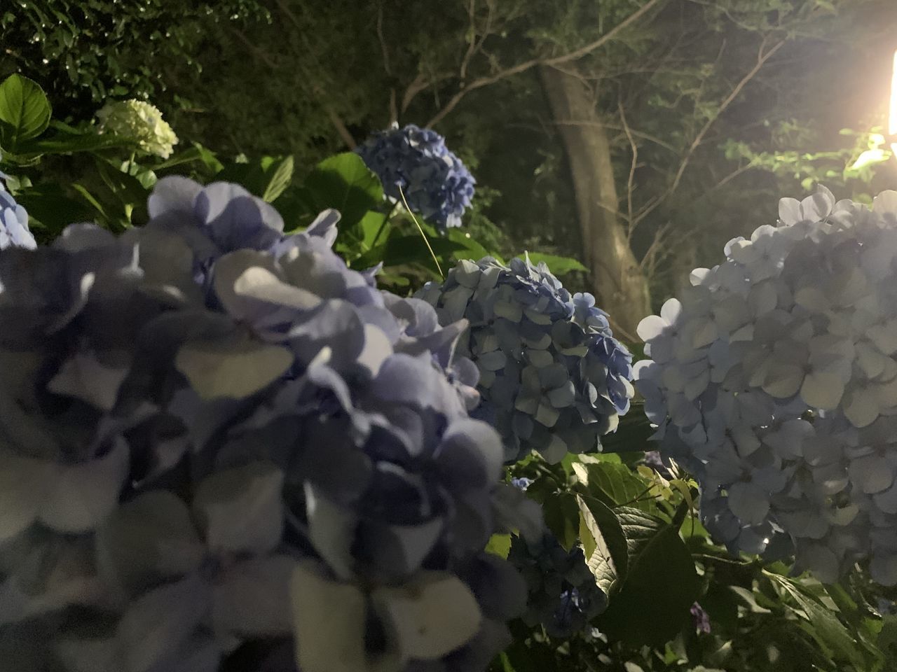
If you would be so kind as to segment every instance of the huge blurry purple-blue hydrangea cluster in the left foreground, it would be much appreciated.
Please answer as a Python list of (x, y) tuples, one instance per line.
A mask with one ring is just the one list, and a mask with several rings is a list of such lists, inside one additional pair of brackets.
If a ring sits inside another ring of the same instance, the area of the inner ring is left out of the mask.
[(165, 177), (150, 223), (0, 252), (0, 659), (15, 669), (485, 668), (541, 534), (452, 375), (465, 323)]

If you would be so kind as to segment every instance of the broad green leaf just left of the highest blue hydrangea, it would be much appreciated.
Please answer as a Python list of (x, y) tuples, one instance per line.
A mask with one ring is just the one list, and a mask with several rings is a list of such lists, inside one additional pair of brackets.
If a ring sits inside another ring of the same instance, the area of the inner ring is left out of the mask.
[(305, 178), (303, 196), (316, 214), (335, 208), (341, 226), (353, 227), (383, 202), (379, 177), (351, 151), (324, 159)]

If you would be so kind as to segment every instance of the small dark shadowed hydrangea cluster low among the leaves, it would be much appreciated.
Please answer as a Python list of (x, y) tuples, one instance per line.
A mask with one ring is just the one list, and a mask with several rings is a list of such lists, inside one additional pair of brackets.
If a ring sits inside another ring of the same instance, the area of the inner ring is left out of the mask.
[(569, 639), (590, 630), (589, 621), (607, 607), (607, 596), (597, 587), (579, 547), (565, 551), (547, 532), (536, 543), (516, 537), (508, 559), (527, 582), (523, 620), (530, 627), (542, 624), (549, 636)]

